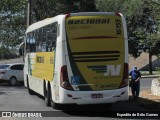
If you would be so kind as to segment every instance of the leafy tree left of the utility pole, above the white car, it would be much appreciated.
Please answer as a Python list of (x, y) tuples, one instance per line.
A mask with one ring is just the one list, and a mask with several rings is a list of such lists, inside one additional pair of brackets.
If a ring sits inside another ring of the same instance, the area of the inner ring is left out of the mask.
[(6, 46), (19, 44), (26, 28), (25, 0), (0, 1), (0, 42)]

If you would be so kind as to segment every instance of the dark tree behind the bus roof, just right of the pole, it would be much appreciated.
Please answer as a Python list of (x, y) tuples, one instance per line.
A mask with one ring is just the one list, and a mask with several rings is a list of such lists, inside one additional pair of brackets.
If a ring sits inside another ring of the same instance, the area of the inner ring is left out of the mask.
[(94, 0), (32, 0), (32, 22), (71, 12), (94, 12)]

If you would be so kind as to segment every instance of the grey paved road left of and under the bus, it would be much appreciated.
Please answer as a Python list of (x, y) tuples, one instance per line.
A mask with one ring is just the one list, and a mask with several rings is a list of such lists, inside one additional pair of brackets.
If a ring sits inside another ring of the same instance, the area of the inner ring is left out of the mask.
[[(144, 112), (146, 108), (139, 105), (138, 102), (117, 102), (113, 104), (112, 109), (108, 110), (106, 105), (83, 105), (69, 106), (69, 110), (55, 110), (45, 106), (44, 99), (38, 95), (29, 95), (24, 86), (11, 87), (8, 84), (0, 84), (0, 111), (33, 111), (40, 112), (43, 116), (55, 117), (84, 117), (99, 116), (100, 120), (105, 117), (117, 114), (119, 112)], [(95, 119), (92, 117), (92, 119)]]

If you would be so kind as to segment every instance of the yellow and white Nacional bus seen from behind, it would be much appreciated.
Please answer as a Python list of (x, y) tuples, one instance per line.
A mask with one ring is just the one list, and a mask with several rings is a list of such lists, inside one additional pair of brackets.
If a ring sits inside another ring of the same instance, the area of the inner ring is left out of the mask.
[(128, 39), (124, 16), (113, 12), (58, 15), (30, 25), (24, 83), (47, 106), (126, 101)]

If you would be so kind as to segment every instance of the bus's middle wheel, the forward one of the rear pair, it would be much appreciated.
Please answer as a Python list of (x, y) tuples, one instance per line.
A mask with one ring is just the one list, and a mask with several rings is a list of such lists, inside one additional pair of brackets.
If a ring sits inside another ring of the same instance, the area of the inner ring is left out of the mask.
[(46, 106), (51, 106), (51, 87), (49, 83), (48, 83), (48, 90), (45, 89), (44, 99)]

